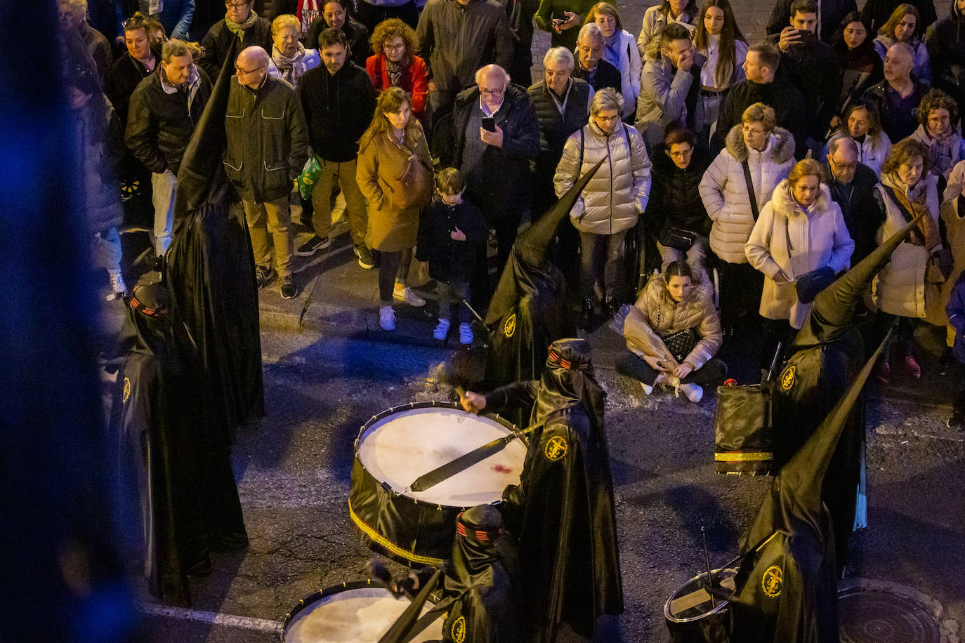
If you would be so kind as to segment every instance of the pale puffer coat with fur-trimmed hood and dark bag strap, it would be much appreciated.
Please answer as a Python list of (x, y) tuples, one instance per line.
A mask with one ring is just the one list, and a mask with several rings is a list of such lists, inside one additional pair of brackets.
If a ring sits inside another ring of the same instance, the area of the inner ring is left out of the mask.
[(758, 200), (758, 212), (771, 200), (774, 188), (794, 167), (794, 137), (786, 129), (775, 127), (767, 137), (763, 151), (744, 144), (741, 125), (734, 125), (727, 135), (727, 147), (717, 155), (701, 180), (701, 199), (707, 215), (714, 222), (710, 228), (710, 250), (728, 263), (746, 263), (744, 244), (754, 229), (754, 214), (744, 178), (745, 159), (751, 171), (751, 182)]

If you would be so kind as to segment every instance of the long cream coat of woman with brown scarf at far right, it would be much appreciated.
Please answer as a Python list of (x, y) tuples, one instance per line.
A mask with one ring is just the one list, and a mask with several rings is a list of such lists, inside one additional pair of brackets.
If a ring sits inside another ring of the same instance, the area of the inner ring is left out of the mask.
[[(881, 184), (896, 191), (904, 190), (903, 187), (897, 185), (891, 174), (883, 175)], [(914, 198), (922, 190), (925, 191), (928, 212), (936, 222), (939, 212), (937, 184), (938, 179), (935, 175), (928, 174), (915, 186), (913, 194)], [(885, 204), (885, 223), (878, 230), (878, 242), (880, 243), (904, 228), (907, 222), (901, 215), (897, 203), (888, 196), (888, 193), (880, 187), (875, 189), (881, 192), (881, 201)], [(927, 261), (928, 251), (923, 246), (916, 246), (907, 241), (898, 245), (895, 252), (892, 253), (892, 260), (878, 272), (871, 283), (874, 304), (881, 310), (893, 315), (924, 319), (925, 309), (932, 303), (932, 297), (938, 294), (932, 292), (930, 288), (925, 289), (924, 287), (924, 271)]]

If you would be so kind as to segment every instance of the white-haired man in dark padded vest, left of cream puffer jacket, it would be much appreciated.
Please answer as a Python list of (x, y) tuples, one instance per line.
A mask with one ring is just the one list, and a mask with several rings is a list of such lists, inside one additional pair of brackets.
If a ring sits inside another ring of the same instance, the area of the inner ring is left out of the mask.
[(565, 47), (553, 47), (543, 56), (543, 80), (528, 90), (537, 112), (539, 154), (533, 186), (533, 216), (556, 203), (553, 174), (570, 134), (587, 124), (593, 90), (585, 80), (571, 78), (575, 59)]

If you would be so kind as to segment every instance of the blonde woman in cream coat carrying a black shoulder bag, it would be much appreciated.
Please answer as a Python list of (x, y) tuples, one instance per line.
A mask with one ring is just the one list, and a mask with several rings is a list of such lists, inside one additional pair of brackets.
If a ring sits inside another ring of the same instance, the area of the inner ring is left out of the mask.
[(798, 161), (774, 188), (744, 246), (747, 260), (764, 275), (760, 316), (770, 320), (773, 343), (801, 328), (814, 296), (848, 269), (853, 252), (821, 164)]

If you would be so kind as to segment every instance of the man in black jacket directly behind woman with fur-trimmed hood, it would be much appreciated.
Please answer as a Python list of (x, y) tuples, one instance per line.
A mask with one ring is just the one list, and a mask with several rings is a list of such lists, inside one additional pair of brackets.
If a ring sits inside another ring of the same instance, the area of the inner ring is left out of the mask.
[(747, 50), (744, 62), (747, 79), (735, 84), (721, 104), (714, 135), (714, 151), (724, 148), (731, 127), (741, 123), (744, 110), (754, 103), (764, 103), (774, 110), (777, 124), (794, 135), (794, 155), (804, 158), (807, 153), (804, 142), (807, 129), (804, 97), (786, 78), (775, 77), (780, 63), (781, 50), (770, 42), (758, 42)]

